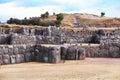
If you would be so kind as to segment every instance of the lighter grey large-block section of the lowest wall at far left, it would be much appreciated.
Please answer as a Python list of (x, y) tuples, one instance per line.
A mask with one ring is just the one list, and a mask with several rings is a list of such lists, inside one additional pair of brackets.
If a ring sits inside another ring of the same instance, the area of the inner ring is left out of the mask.
[(1, 45), (1, 64), (30, 62), (34, 60), (34, 45)]

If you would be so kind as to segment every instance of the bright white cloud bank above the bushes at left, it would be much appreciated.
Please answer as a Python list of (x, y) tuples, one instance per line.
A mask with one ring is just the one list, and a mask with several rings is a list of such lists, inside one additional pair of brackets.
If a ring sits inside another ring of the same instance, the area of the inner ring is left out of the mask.
[[(15, 2), (5, 3), (0, 5), (0, 18), (2, 21), (8, 20), (10, 17), (24, 18), (32, 16), (40, 16), (46, 11), (53, 13), (61, 10), (59, 6), (37, 6), (37, 7), (22, 7), (17, 6)], [(2, 16), (2, 17), (1, 17)], [(3, 19), (4, 18), (4, 19)]]

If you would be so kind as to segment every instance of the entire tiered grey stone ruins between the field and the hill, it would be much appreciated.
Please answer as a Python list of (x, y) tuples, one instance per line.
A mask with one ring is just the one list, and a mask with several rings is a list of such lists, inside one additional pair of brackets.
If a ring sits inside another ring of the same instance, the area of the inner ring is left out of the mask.
[(22, 62), (60, 63), (85, 57), (120, 58), (120, 29), (66, 30), (48, 28), (0, 28), (0, 64)]

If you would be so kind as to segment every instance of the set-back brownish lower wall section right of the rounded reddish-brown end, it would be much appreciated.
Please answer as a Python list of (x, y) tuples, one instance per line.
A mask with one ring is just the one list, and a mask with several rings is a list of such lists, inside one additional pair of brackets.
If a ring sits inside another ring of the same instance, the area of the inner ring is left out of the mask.
[(105, 44), (100, 46), (83, 46), (85, 48), (87, 57), (109, 57), (120, 58), (120, 44)]

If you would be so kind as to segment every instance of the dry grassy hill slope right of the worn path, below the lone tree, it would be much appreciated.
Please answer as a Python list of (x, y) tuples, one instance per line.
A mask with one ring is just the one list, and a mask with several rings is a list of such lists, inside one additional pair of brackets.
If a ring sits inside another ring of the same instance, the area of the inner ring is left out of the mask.
[(119, 27), (120, 18), (101, 17), (93, 14), (74, 14), (74, 19), (79, 26), (89, 25), (91, 27)]

